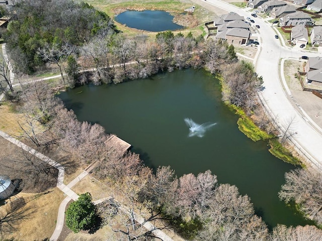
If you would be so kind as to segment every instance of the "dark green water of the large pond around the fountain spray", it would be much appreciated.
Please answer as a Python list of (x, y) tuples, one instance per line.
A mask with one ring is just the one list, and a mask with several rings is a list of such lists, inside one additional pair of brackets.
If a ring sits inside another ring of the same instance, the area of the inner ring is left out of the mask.
[[(219, 183), (248, 194), (270, 227), (308, 223), (278, 199), (284, 173), (294, 167), (272, 156), (267, 143), (254, 143), (238, 130), (237, 116), (221, 102), (218, 81), (205, 71), (85, 85), (59, 97), (79, 121), (99, 123), (130, 143), (148, 166), (170, 165), (178, 176), (210, 169)], [(189, 137), (186, 117), (216, 125), (202, 138)]]

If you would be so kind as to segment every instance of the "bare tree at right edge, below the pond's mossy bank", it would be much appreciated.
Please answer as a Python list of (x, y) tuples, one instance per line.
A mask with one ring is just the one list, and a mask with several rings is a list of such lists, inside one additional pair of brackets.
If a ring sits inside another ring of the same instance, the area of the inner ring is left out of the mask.
[(286, 183), (279, 198), (286, 203), (295, 201), (306, 216), (322, 223), (322, 177), (313, 169), (295, 169), (285, 174)]

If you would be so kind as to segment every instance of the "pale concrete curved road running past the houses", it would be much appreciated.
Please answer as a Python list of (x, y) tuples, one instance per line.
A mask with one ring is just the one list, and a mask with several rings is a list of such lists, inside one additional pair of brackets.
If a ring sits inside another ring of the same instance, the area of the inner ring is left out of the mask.
[(253, 18), (251, 12), (219, 0), (207, 0), (207, 3), (228, 12), (235, 12), (245, 18), (251, 17), (255, 20), (256, 25), (260, 25), (258, 39), (261, 51), (255, 60), (256, 72), (260, 76), (263, 76), (264, 80), (264, 88), (260, 96), (262, 96), (262, 100), (264, 100), (263, 102), (268, 111), (276, 117), (276, 122), (282, 132), (285, 132), (290, 122), (292, 123), (290, 129), (294, 133), (292, 136), (293, 143), (298, 144), (300, 151), (305, 153), (306, 157), (316, 167), (322, 170), (322, 135), (313, 128), (308, 119), (302, 116), (289, 101), (279, 80), (278, 66), (281, 58), (298, 59), (302, 55), (315, 57), (318, 54), (311, 52), (305, 52), (304, 54), (298, 49), (282, 47), (280, 40), (274, 37), (276, 33), (271, 27), (271, 24), (266, 23), (262, 18)]

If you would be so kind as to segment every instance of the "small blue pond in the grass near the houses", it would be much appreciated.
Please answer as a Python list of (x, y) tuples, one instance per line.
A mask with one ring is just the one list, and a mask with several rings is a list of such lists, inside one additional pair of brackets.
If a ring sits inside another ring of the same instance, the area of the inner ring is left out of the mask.
[(173, 16), (165, 11), (126, 11), (115, 17), (115, 21), (129, 28), (150, 32), (183, 29), (173, 22)]

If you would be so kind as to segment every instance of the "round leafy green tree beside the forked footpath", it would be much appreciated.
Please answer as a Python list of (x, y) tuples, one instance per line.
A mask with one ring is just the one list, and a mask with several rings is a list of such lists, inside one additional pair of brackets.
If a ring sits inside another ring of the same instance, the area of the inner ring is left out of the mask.
[(92, 195), (89, 192), (79, 195), (78, 200), (69, 205), (65, 214), (66, 225), (73, 232), (92, 228), (97, 216)]

